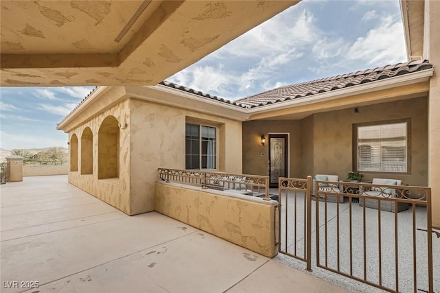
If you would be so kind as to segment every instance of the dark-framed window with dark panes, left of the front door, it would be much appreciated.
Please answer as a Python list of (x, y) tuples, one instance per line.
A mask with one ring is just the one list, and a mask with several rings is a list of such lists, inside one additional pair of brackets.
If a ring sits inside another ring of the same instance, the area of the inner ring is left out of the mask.
[(217, 168), (217, 128), (186, 124), (186, 169)]

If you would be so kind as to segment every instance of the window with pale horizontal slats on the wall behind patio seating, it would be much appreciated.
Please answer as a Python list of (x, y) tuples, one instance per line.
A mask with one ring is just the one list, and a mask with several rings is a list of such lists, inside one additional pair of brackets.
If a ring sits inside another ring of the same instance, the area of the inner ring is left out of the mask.
[(355, 126), (358, 171), (408, 172), (408, 122)]

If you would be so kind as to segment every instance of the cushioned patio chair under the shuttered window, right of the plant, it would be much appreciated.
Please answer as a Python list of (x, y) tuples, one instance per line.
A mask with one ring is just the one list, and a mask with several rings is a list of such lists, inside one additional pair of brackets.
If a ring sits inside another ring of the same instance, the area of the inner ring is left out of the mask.
[[(362, 196), (369, 196), (371, 198), (365, 198), (365, 207), (371, 209), (377, 209), (379, 200), (375, 198), (395, 198), (396, 190), (393, 188), (388, 188), (384, 186), (375, 185), (402, 185), (401, 180), (397, 179), (386, 179), (386, 178), (373, 178), (371, 182), (371, 187), (364, 187), (360, 194)], [(359, 205), (362, 207), (364, 200), (360, 198)], [(399, 211), (405, 211), (409, 208), (409, 204), (406, 202), (397, 202), (397, 213)], [(395, 212), (395, 202), (393, 200), (381, 200), (380, 209), (382, 211)]]

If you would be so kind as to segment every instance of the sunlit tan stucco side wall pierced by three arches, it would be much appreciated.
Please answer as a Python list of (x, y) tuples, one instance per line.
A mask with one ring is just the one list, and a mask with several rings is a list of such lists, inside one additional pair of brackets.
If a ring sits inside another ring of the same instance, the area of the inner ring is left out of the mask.
[[(119, 131), (119, 159), (118, 159), (118, 177), (106, 178), (98, 180), (98, 131), (102, 121), (109, 115), (113, 115), (118, 121), (125, 121), (128, 125), (126, 129)], [(130, 131), (130, 115), (129, 100), (126, 99), (120, 104), (105, 110), (96, 117), (93, 117), (85, 124), (75, 128), (69, 133), (82, 137), (86, 127), (91, 129), (93, 134), (93, 174), (81, 175), (81, 140), (78, 140), (78, 171), (69, 172), (69, 183), (76, 187), (87, 191), (89, 194), (96, 196), (100, 200), (111, 204), (113, 207), (120, 209), (129, 215), (133, 214), (130, 207), (130, 148), (129, 148), (129, 131)], [(72, 146), (71, 146), (72, 148)]]

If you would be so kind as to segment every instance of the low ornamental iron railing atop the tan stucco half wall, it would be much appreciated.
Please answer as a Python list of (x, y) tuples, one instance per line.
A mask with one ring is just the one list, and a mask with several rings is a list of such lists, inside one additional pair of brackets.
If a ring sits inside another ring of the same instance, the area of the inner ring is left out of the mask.
[(185, 183), (203, 189), (237, 190), (243, 194), (252, 194), (270, 200), (269, 176), (232, 174), (199, 170), (159, 168), (160, 180)]

